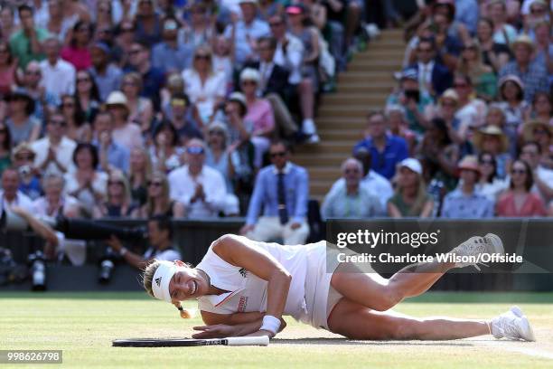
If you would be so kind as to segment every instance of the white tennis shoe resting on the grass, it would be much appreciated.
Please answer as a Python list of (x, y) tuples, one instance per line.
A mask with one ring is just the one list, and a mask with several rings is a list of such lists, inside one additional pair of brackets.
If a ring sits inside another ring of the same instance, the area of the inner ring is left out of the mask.
[(492, 335), (495, 338), (511, 340), (536, 341), (528, 318), (520, 307), (511, 307), (511, 310), (492, 319)]

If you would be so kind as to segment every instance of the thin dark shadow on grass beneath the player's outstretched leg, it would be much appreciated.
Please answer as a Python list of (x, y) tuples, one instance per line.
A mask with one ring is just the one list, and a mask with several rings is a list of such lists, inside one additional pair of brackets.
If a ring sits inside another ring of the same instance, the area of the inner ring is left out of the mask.
[(445, 347), (470, 347), (466, 341), (360, 341), (347, 338), (273, 338), (271, 345), (422, 345)]

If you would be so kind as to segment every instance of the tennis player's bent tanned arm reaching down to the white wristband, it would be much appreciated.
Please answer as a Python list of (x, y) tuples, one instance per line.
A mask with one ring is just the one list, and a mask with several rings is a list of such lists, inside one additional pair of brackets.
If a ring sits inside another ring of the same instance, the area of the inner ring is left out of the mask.
[(242, 267), (260, 279), (267, 280), (266, 317), (277, 319), (282, 317), (292, 281), (292, 276), (282, 264), (267, 251), (251, 247), (248, 243), (241, 241), (241, 237), (229, 234), (214, 242), (213, 251), (222, 260)]

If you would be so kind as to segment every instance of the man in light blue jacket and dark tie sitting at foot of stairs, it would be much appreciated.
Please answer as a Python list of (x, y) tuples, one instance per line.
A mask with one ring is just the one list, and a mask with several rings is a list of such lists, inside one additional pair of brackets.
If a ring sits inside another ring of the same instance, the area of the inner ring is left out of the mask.
[[(304, 244), (309, 235), (307, 171), (289, 161), (289, 150), (282, 141), (271, 144), (269, 155), (273, 165), (259, 171), (240, 232), (255, 241), (282, 238), (286, 245)], [(263, 216), (259, 217), (262, 206)]]

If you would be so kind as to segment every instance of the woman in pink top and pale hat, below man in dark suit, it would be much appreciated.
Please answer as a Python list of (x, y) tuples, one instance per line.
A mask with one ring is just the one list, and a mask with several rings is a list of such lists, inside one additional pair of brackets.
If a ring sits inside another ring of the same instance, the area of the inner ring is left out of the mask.
[(261, 76), (257, 70), (246, 68), (240, 73), (240, 88), (248, 104), (248, 114), (244, 117), (253, 123), (251, 142), (256, 147), (254, 165), (261, 167), (263, 155), (270, 145), (270, 138), (275, 130), (273, 108), (267, 99), (259, 99), (257, 91)]

